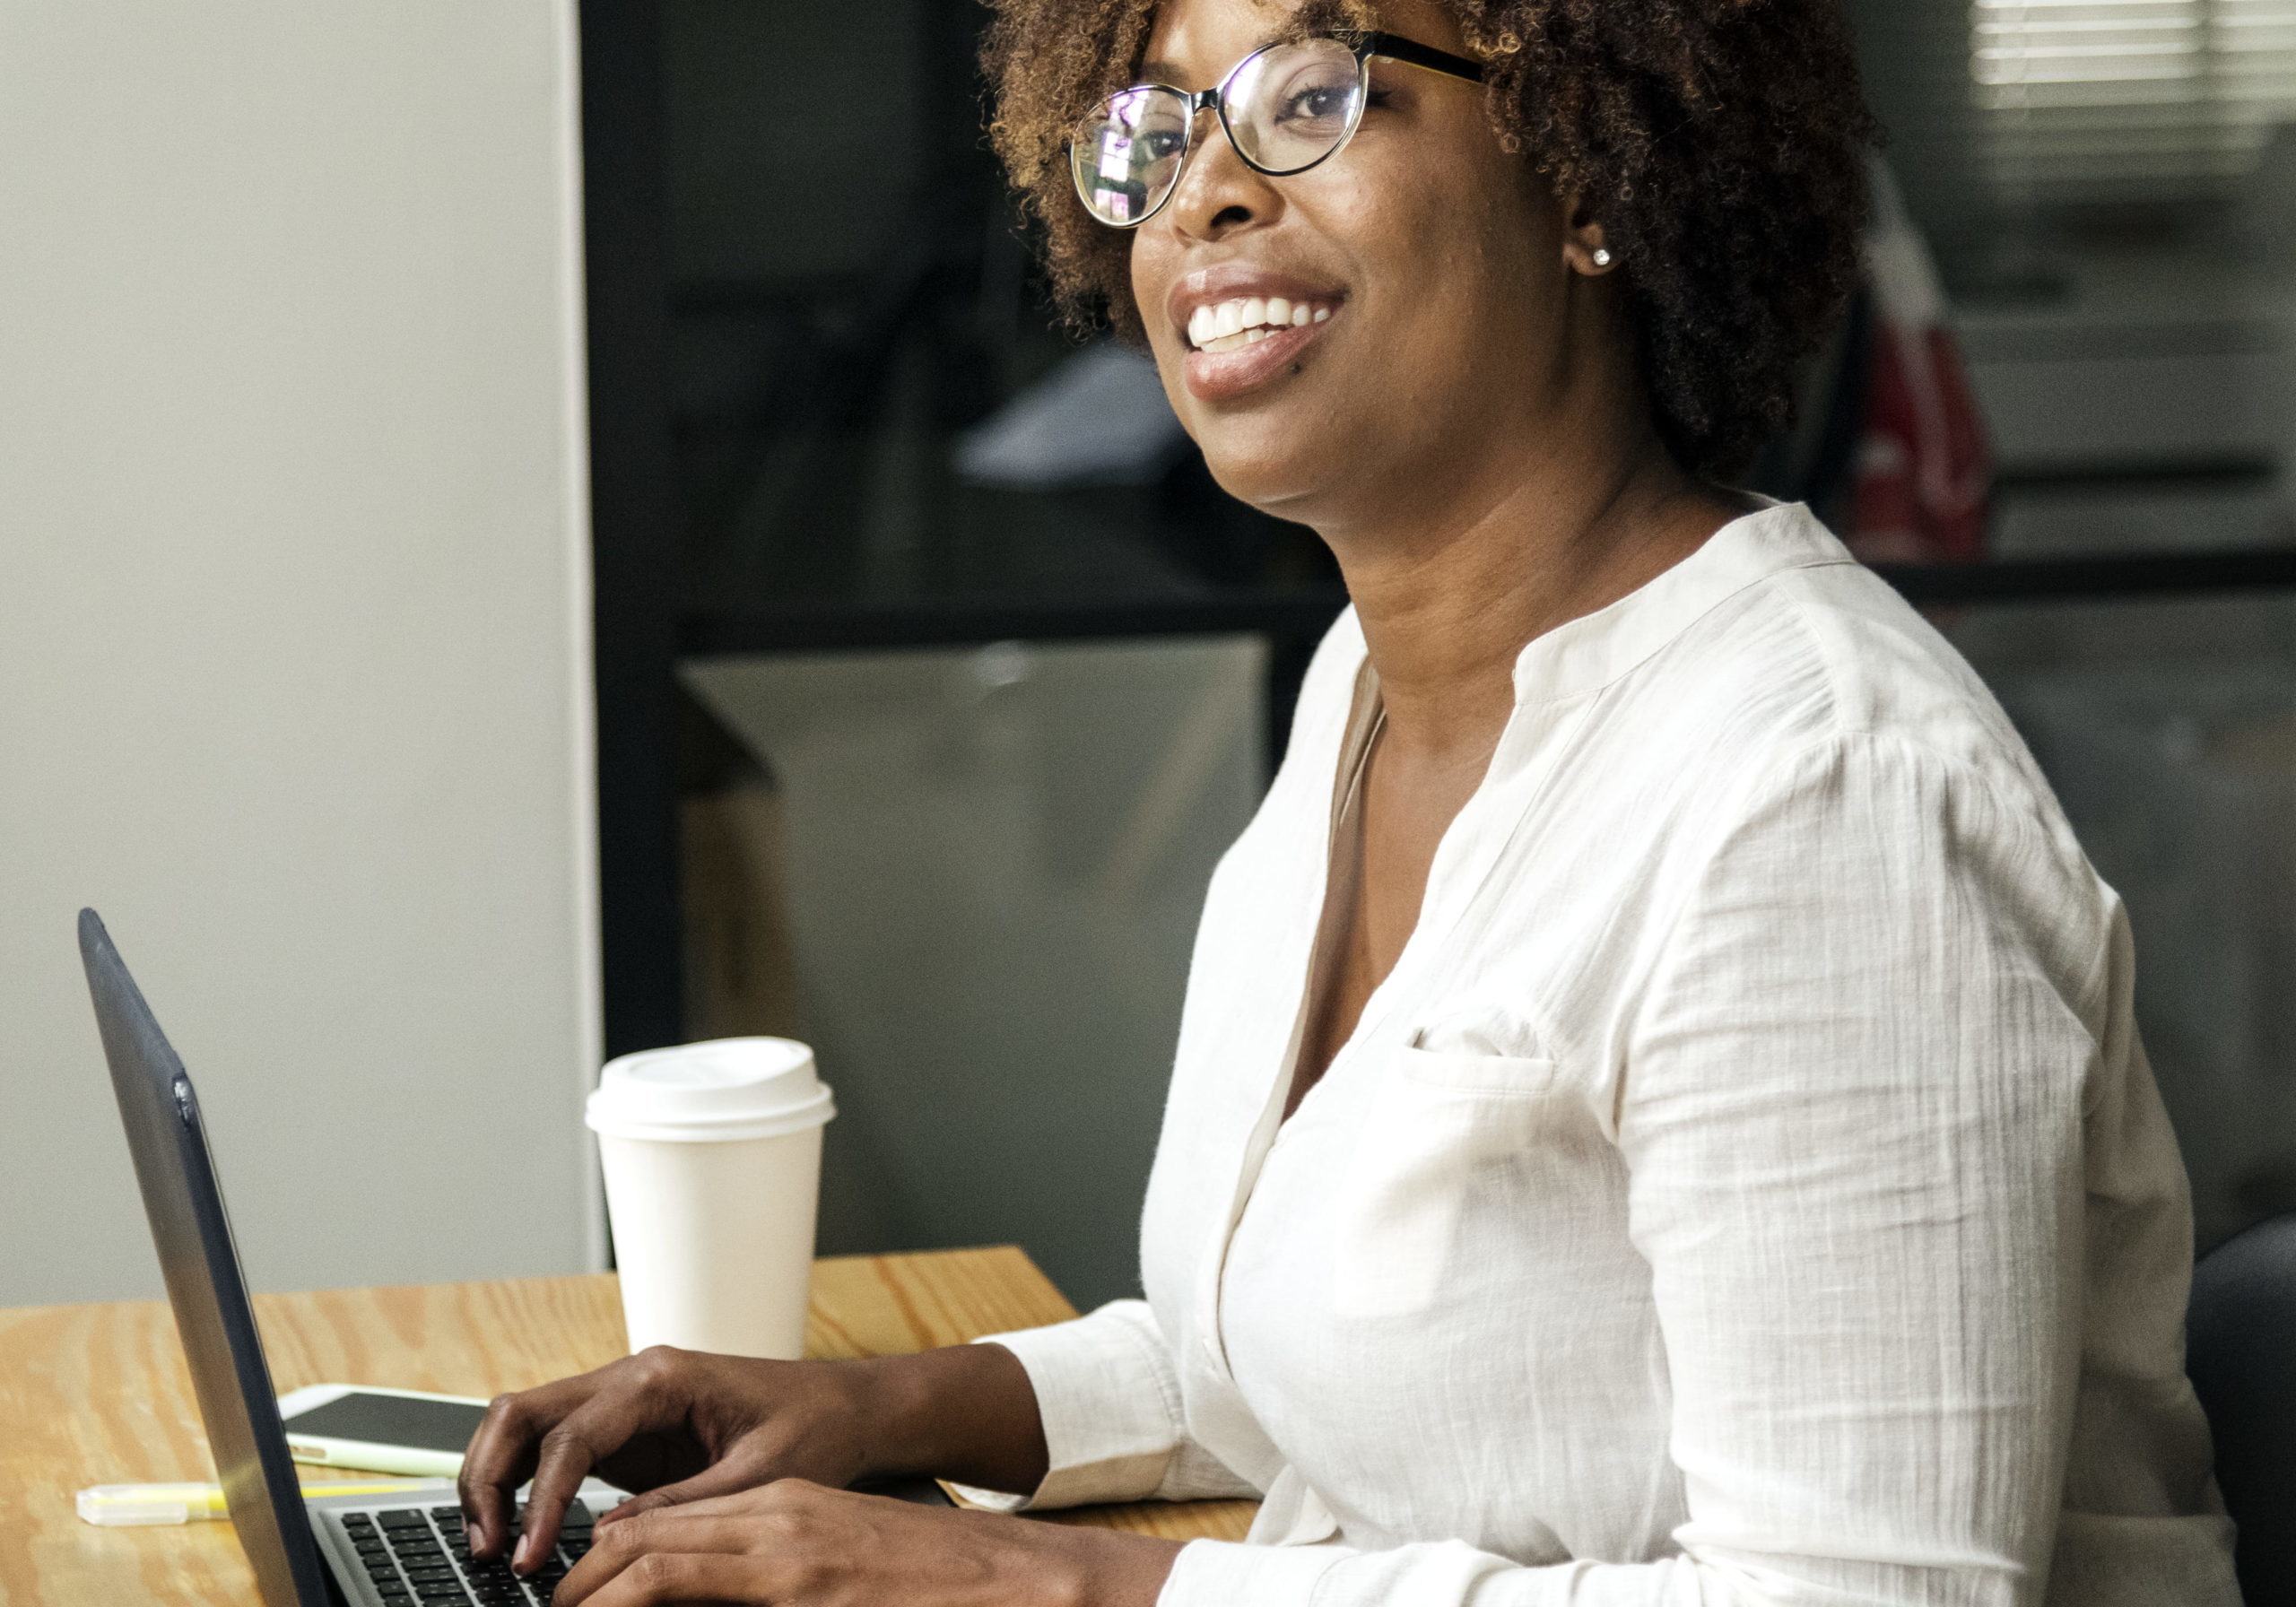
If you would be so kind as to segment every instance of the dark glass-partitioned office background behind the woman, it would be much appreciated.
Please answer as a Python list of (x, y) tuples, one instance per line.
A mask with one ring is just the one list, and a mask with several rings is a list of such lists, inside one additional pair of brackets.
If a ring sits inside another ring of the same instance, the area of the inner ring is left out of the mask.
[[(608, 1042), (815, 1040), (824, 1249), (1019, 1240), (1088, 1302), (1341, 599), (1052, 326), (983, 16), (583, 5)], [(1993, 466), (1981, 553), (1878, 567), (2128, 900), (2216, 1242), (2296, 1208), (2296, 0), (1853, 23)]]

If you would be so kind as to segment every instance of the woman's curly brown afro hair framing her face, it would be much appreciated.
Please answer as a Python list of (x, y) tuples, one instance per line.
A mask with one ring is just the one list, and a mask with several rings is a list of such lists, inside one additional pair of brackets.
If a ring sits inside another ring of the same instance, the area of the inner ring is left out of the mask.
[[(1143, 340), (1130, 234), (1093, 223), (1068, 135), (1132, 83), (1157, 0), (990, 0), (990, 138), (1079, 326)], [(1876, 126), (1837, 0), (1446, 0), (1490, 122), (1603, 223), (1660, 438), (1738, 473), (1793, 418), (1802, 360), (1857, 271)], [(1373, 25), (1309, 0), (1295, 32)]]

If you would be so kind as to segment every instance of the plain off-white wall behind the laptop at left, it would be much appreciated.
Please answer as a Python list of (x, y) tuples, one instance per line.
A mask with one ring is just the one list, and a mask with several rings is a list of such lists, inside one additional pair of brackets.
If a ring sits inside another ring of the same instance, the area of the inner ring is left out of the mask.
[(158, 1276), (71, 923), (257, 1288), (597, 1256), (569, 0), (0, 0), (0, 1304)]

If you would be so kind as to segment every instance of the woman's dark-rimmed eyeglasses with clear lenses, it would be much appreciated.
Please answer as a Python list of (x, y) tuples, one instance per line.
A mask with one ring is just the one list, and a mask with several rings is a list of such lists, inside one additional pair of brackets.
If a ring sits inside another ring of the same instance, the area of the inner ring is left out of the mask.
[(1137, 83), (1077, 124), (1068, 165), (1084, 209), (1114, 230), (1148, 223), (1180, 186), (1196, 112), (1219, 112), (1228, 145), (1254, 172), (1283, 179), (1327, 161), (1355, 138), (1371, 99), (1371, 57), (1483, 83), (1463, 55), (1364, 30), (1261, 46), (1217, 90)]

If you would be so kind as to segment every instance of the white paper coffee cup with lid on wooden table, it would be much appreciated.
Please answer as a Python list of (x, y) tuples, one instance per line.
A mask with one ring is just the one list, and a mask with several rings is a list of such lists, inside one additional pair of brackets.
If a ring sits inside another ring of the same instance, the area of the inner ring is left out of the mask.
[(588, 1123), (634, 1352), (804, 1354), (822, 1123), (833, 1113), (813, 1049), (790, 1038), (606, 1063)]

